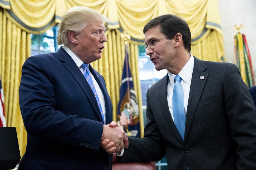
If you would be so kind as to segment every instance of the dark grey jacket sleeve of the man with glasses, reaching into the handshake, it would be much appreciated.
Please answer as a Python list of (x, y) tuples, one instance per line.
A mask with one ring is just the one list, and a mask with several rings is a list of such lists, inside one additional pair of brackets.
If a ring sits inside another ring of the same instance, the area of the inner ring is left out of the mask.
[(117, 157), (118, 162), (156, 162), (165, 154), (165, 140), (155, 122), (152, 114), (147, 92), (147, 122), (143, 138), (128, 137), (129, 147), (124, 150), (122, 157)]

